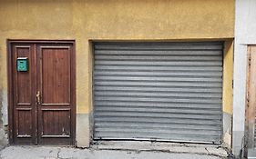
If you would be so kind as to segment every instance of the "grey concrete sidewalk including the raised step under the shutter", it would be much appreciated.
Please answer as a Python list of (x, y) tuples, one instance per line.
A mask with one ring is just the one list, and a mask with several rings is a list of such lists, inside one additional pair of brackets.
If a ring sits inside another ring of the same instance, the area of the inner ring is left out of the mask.
[(57, 146), (8, 146), (0, 159), (220, 159), (227, 152), (217, 145), (106, 142), (89, 149)]

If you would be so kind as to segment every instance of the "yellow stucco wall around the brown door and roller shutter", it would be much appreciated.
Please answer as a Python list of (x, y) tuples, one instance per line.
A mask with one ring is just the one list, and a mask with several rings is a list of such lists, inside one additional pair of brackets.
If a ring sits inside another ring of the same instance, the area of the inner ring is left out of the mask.
[[(0, 0), (0, 84), (6, 91), (7, 38), (75, 39), (77, 112), (87, 114), (92, 106), (89, 40), (231, 39), (233, 27), (234, 0)], [(224, 94), (230, 98), (231, 92)]]

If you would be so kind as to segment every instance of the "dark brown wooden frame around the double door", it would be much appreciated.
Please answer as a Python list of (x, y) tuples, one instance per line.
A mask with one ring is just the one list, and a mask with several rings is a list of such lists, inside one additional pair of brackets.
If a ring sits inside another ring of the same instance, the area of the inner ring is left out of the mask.
[[(7, 96), (8, 96), (8, 137), (9, 144), (14, 144), (14, 84), (13, 84), (13, 74), (14, 65), (12, 63), (12, 44), (71, 44), (71, 70), (70, 70), (70, 82), (71, 82), (71, 104), (73, 105), (71, 110), (71, 140), (72, 145), (76, 144), (76, 127), (77, 127), (77, 79), (76, 79), (76, 41), (75, 40), (24, 40), (24, 39), (7, 39)], [(36, 54), (36, 51), (33, 52)], [(36, 121), (38, 122), (38, 121)]]

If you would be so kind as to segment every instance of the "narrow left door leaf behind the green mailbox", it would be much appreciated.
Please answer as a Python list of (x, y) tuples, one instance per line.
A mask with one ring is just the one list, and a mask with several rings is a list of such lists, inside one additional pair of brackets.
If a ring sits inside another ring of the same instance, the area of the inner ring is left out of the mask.
[[(36, 111), (35, 99), (33, 99), (35, 84), (33, 45), (14, 45), (12, 47), (13, 75), (14, 75), (14, 142), (15, 144), (36, 143)], [(18, 72), (16, 59), (28, 58), (28, 71)]]

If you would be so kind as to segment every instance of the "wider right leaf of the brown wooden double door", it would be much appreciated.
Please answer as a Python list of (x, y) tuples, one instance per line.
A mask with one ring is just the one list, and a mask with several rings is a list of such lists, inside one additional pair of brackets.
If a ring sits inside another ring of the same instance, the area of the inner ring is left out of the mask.
[(39, 144), (55, 140), (71, 144), (71, 46), (39, 45), (37, 50), (38, 88), (42, 93), (38, 107)]

